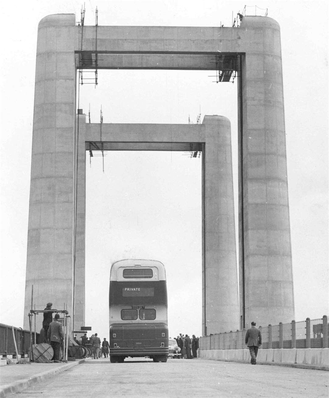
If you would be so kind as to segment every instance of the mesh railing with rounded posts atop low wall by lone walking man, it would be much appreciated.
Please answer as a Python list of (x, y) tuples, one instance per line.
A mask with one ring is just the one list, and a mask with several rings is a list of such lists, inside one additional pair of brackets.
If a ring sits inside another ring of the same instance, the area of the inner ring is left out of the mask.
[[(278, 325), (259, 326), (262, 348), (328, 348), (328, 317)], [(200, 349), (241, 349), (247, 330), (225, 332), (200, 338)]]

